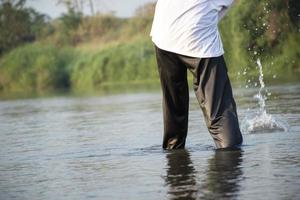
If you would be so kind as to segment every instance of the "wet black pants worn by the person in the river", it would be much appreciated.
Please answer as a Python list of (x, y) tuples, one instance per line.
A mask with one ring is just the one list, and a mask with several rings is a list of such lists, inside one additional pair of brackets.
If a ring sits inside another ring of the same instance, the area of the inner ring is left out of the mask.
[(194, 91), (217, 148), (240, 145), (243, 138), (223, 56), (195, 58), (156, 47), (156, 58), (163, 92), (163, 148), (185, 146), (189, 111), (187, 69), (193, 74)]

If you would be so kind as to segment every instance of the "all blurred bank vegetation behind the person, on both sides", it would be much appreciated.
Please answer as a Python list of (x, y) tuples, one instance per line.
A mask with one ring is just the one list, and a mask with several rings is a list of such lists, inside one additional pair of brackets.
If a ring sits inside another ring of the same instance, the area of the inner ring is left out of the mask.
[[(158, 82), (148, 36), (153, 4), (130, 19), (83, 16), (69, 6), (68, 13), (49, 20), (24, 3), (0, 4), (0, 93)], [(267, 77), (288, 79), (300, 72), (299, 6), (297, 0), (238, 1), (220, 24), (233, 78), (255, 74), (257, 58)]]

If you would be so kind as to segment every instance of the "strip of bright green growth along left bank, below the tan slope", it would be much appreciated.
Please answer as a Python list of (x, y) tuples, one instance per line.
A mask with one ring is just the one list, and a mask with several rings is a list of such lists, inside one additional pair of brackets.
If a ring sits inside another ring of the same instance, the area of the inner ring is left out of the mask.
[(49, 92), (58, 89), (97, 90), (104, 85), (157, 80), (153, 45), (149, 39), (87, 52), (30, 44), (0, 60), (3, 93)]

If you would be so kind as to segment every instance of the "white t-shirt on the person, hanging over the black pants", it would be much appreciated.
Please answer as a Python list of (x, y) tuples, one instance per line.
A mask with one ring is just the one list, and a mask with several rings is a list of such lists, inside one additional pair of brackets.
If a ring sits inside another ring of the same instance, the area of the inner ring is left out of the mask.
[(191, 57), (224, 54), (218, 22), (233, 0), (158, 0), (151, 30), (160, 49)]

